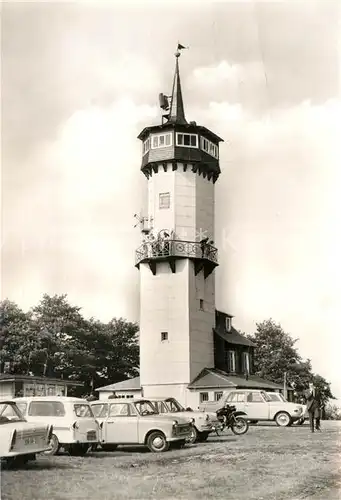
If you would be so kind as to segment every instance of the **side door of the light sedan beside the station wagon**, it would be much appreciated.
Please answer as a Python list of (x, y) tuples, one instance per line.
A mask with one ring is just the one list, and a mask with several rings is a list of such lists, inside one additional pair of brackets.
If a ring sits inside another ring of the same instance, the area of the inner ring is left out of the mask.
[(138, 443), (138, 417), (130, 403), (110, 403), (104, 425), (106, 443)]

